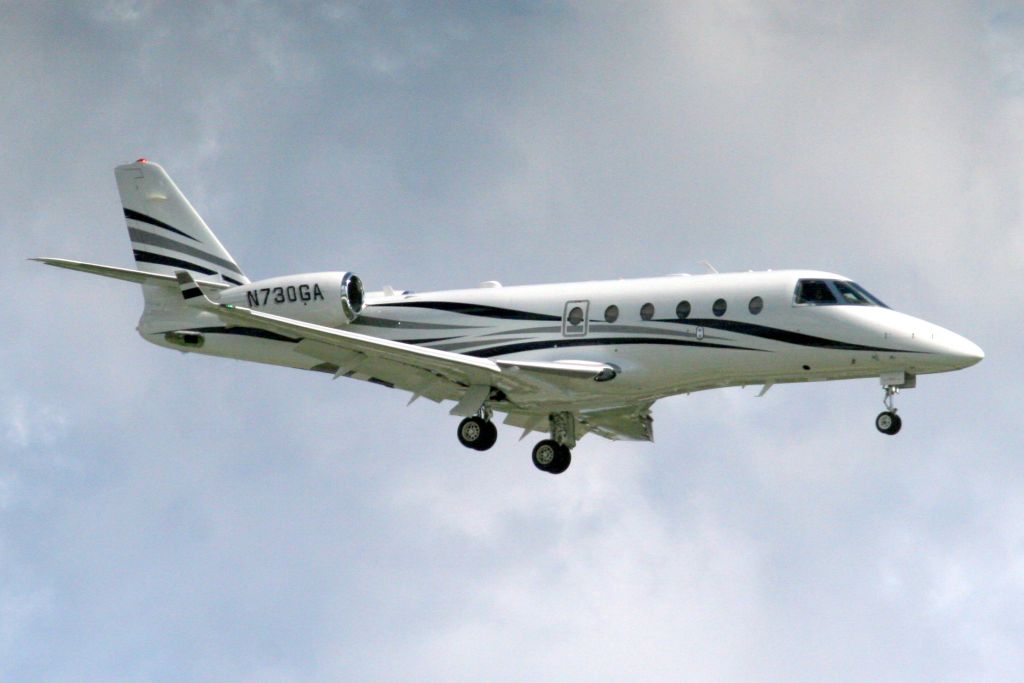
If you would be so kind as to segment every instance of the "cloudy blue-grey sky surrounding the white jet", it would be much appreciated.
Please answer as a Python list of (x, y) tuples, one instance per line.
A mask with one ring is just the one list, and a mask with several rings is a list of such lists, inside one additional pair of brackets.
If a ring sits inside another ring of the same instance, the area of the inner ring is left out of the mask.
[[(1024, 8), (0, 0), (0, 680), (1007, 681), (1024, 671)], [(986, 352), (679, 396), (655, 442), (134, 332), (113, 167), (259, 279), (807, 267)], [(536, 436), (536, 435), (535, 435)]]

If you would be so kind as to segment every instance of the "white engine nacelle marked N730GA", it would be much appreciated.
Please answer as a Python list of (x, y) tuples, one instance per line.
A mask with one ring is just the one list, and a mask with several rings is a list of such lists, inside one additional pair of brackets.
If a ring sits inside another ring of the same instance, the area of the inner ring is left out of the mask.
[(220, 303), (328, 327), (348, 325), (362, 310), (362, 282), (351, 272), (307, 272), (222, 290)]

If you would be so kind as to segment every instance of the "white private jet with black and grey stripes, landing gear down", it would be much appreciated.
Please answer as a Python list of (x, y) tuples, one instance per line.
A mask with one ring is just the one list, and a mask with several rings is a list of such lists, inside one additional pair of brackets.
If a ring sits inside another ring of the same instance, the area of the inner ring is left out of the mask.
[(428, 293), (367, 292), (350, 271), (252, 282), (160, 165), (115, 169), (136, 268), (42, 263), (141, 285), (137, 331), (158, 346), (402, 389), (463, 418), (486, 451), (504, 424), (547, 432), (538, 469), (564, 472), (588, 433), (653, 440), (666, 396), (731, 386), (878, 378), (877, 429), (896, 434), (900, 389), (984, 352), (818, 270), (667, 275)]

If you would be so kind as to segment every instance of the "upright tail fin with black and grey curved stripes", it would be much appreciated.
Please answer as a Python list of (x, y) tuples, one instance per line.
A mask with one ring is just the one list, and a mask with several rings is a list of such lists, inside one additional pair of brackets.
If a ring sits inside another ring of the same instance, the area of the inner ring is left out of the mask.
[(249, 279), (170, 176), (145, 159), (114, 170), (139, 270), (246, 285)]

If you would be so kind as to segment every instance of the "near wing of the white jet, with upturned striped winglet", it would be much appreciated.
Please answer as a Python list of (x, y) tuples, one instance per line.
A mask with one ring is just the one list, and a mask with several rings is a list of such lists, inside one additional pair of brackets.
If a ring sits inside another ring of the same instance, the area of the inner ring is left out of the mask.
[(566, 380), (603, 381), (614, 377), (612, 366), (583, 360), (556, 362), (489, 360), (426, 348), (242, 306), (221, 304), (206, 296), (191, 274), (178, 271), (177, 283), (188, 305), (215, 313), (231, 327), (251, 327), (296, 340), (296, 350), (337, 367), (336, 377), (361, 377), (406, 389), (434, 400), (454, 399), (453, 415), (474, 415), (490, 397), (490, 389), (516, 394), (564, 397)]

